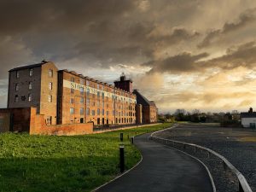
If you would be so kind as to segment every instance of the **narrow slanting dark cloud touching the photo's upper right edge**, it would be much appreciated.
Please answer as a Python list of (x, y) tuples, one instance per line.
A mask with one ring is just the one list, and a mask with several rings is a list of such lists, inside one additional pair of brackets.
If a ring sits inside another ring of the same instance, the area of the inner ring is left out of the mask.
[(239, 15), (239, 18), (235, 22), (226, 22), (222, 29), (218, 30), (212, 30), (211, 32), (207, 33), (207, 36), (203, 39), (203, 41), (198, 44), (198, 48), (205, 48), (212, 44), (212, 41), (214, 41), (216, 38), (219, 38), (220, 36), (229, 34), (230, 32), (236, 32), (236, 30), (241, 29), (244, 26), (247, 26), (247, 24), (253, 22), (256, 20), (256, 9), (247, 9), (241, 15)]

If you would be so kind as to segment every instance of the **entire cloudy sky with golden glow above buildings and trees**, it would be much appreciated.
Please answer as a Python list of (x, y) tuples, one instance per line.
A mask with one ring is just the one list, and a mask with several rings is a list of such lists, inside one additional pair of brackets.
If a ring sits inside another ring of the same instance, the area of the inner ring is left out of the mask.
[(255, 35), (255, 0), (1, 0), (0, 108), (8, 70), (43, 59), (125, 72), (160, 112), (256, 108)]

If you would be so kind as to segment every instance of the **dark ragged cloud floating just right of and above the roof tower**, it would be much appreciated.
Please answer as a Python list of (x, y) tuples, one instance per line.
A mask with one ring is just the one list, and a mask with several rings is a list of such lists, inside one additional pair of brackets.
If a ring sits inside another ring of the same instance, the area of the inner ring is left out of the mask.
[(174, 55), (161, 61), (149, 61), (143, 66), (152, 67), (149, 73), (191, 73), (203, 70), (200, 59), (207, 57), (207, 53), (191, 55), (190, 53), (182, 53)]

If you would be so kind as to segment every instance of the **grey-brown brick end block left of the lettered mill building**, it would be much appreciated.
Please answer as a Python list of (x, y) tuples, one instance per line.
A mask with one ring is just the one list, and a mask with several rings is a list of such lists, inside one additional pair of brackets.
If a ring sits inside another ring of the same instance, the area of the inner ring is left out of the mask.
[(8, 108), (37, 108), (47, 124), (56, 124), (58, 69), (52, 62), (9, 70)]

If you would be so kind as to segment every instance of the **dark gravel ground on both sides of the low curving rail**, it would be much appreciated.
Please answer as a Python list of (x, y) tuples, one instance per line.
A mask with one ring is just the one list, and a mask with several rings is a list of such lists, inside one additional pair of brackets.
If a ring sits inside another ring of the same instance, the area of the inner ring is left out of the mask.
[[(256, 192), (256, 131), (210, 125), (179, 125), (172, 130), (158, 133), (158, 136), (211, 148), (236, 166), (236, 169), (246, 177), (252, 190)], [(183, 146), (175, 146), (175, 148), (183, 150)], [(224, 172), (223, 164), (218, 158), (212, 156), (208, 158), (204, 152), (195, 153), (194, 148), (185, 150), (207, 165), (218, 191), (238, 190), (236, 175), (229, 171)]]

